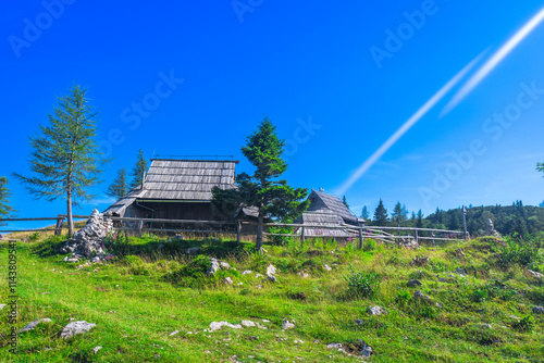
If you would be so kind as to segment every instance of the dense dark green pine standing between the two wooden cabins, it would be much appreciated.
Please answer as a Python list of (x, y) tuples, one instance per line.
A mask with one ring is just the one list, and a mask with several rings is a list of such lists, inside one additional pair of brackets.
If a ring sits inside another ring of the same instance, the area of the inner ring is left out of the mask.
[(294, 220), (309, 205), (308, 190), (292, 188), (286, 180), (277, 178), (287, 170), (282, 159), (285, 141), (280, 139), (275, 126), (268, 117), (260, 123), (258, 130), (246, 138), (247, 145), (242, 153), (256, 167), (254, 175), (238, 174), (237, 189), (212, 189), (212, 206), (222, 211), (225, 205), (237, 201), (238, 205), (258, 210), (257, 250), (262, 250), (262, 229), (264, 217)]

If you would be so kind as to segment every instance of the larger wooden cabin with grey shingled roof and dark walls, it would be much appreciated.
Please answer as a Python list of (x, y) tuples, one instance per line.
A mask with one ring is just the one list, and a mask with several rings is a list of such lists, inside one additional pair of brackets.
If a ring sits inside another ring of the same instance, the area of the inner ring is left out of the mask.
[(235, 188), (235, 160), (153, 159), (140, 187), (104, 214), (165, 220), (220, 220), (212, 213), (211, 189)]

